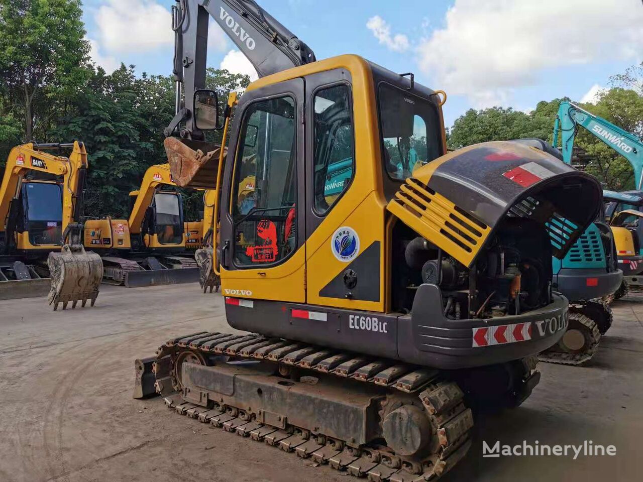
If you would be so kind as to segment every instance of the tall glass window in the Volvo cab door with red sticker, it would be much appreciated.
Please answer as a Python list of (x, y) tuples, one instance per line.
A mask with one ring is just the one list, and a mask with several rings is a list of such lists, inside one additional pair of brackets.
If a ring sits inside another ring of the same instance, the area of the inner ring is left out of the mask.
[(239, 267), (278, 263), (296, 247), (294, 99), (251, 104), (235, 160), (231, 215)]

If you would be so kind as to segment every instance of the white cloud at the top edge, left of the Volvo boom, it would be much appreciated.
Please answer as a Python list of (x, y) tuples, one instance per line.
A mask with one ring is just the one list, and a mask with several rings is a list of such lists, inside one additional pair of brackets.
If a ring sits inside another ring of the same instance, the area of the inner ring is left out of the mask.
[(96, 11), (100, 46), (140, 53), (174, 45), (172, 15), (154, 0), (107, 0)]

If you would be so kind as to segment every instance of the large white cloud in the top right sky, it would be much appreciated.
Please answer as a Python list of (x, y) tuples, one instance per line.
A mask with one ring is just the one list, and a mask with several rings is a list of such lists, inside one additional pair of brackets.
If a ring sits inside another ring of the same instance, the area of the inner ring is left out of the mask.
[(417, 50), (436, 88), (488, 107), (536, 84), (547, 69), (637, 62), (642, 46), (640, 0), (455, 0), (444, 27)]

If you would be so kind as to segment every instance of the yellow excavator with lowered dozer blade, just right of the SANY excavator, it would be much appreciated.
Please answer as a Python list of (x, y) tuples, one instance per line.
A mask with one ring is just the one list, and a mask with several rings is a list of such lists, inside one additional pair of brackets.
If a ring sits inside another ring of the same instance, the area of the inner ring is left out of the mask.
[(181, 193), (169, 166), (150, 166), (129, 196), (129, 219), (85, 223), (84, 245), (102, 255), (105, 282), (141, 287), (198, 281), (197, 264), (186, 253)]

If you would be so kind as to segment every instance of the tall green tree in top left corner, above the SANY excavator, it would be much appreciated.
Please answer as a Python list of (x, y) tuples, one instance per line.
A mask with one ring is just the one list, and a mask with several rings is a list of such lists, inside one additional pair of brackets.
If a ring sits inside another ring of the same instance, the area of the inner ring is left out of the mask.
[(0, 89), (21, 106), (26, 140), (86, 78), (81, 16), (80, 0), (0, 0)]

